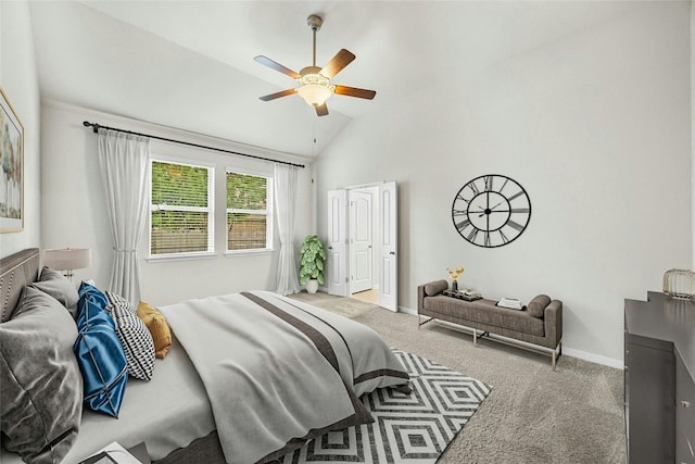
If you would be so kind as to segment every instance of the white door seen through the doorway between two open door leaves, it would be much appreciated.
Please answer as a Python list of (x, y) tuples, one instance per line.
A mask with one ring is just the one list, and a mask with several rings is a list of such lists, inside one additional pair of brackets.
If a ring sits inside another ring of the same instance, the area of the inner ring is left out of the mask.
[(350, 190), (350, 293), (370, 290), (371, 283), (371, 193)]

